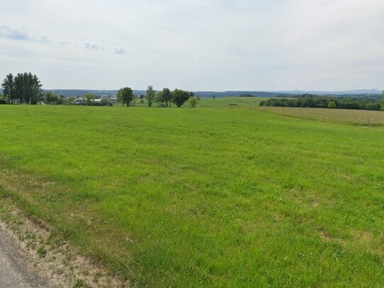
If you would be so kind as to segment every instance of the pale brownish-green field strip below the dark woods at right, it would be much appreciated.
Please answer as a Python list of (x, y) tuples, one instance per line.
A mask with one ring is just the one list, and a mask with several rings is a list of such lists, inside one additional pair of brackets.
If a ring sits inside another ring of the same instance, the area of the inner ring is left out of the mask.
[(382, 111), (290, 107), (260, 107), (260, 110), (323, 122), (366, 126), (384, 125), (384, 113)]

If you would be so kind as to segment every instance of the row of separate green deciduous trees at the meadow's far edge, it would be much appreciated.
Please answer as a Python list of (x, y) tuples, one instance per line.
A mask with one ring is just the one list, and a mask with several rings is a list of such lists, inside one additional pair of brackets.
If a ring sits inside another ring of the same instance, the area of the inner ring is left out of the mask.
[[(190, 100), (190, 105), (194, 108), (200, 100), (199, 97), (194, 96), (193, 92), (181, 89), (170, 91), (169, 88), (163, 88), (162, 91), (156, 92), (153, 90), (153, 86), (148, 86), (144, 98), (146, 99), (148, 107), (151, 107), (153, 103), (157, 103), (158, 107), (170, 107), (171, 104), (174, 104), (180, 108), (187, 100)], [(136, 96), (134, 96), (132, 88), (130, 87), (120, 88), (119, 92), (117, 92), (117, 100), (126, 107), (136, 105)], [(141, 101), (144, 102), (143, 99), (141, 99)]]

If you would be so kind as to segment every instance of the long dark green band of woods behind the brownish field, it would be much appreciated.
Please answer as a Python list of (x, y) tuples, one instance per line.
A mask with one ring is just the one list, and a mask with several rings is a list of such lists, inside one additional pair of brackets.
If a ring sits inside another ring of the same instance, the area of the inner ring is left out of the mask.
[(260, 106), (380, 110), (381, 100), (377, 98), (325, 97), (307, 94), (294, 98), (269, 98), (260, 102)]

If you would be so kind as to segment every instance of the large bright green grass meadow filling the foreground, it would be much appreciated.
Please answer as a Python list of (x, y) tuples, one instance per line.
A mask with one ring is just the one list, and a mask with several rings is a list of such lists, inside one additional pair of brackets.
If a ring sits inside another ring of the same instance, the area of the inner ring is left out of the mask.
[(384, 284), (383, 127), (1, 105), (0, 133), (1, 197), (138, 286)]

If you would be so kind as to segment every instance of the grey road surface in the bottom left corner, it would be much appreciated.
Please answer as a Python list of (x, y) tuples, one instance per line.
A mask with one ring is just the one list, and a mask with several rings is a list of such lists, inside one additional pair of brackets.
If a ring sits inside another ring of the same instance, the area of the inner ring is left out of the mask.
[(0, 288), (52, 287), (47, 280), (37, 277), (16, 245), (11, 236), (0, 228)]

